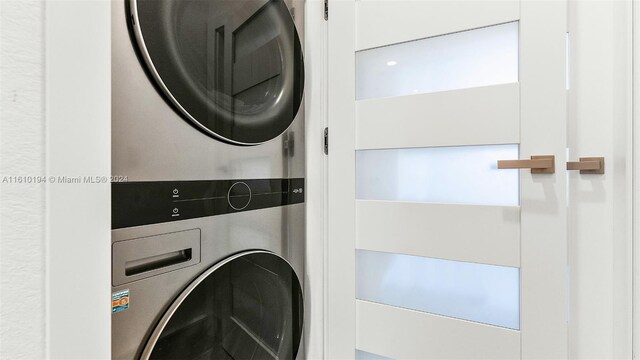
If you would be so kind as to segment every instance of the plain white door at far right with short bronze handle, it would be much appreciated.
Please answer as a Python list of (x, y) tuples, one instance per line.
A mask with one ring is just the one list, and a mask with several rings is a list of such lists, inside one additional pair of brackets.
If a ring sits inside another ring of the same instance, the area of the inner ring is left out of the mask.
[(569, 158), (606, 159), (602, 177), (569, 174), (569, 354), (577, 359), (632, 353), (632, 5), (569, 3)]

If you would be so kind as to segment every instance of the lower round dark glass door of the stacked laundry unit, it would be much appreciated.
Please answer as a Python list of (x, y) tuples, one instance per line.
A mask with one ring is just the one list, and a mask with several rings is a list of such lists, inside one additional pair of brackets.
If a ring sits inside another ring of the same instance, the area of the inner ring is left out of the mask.
[(302, 288), (289, 263), (248, 251), (194, 280), (161, 318), (142, 359), (295, 359)]

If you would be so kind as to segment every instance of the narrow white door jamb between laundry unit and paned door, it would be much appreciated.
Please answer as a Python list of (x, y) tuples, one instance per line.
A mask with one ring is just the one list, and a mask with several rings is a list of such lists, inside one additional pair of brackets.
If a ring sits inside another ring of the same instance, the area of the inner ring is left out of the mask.
[(324, 1), (305, 1), (305, 131), (306, 131), (306, 256), (305, 355), (325, 358), (325, 260), (327, 156), (327, 22)]

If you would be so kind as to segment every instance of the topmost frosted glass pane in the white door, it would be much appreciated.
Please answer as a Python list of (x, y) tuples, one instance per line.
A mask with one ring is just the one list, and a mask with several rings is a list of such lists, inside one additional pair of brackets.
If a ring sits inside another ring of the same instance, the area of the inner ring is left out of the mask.
[(518, 22), (356, 52), (357, 100), (515, 82)]

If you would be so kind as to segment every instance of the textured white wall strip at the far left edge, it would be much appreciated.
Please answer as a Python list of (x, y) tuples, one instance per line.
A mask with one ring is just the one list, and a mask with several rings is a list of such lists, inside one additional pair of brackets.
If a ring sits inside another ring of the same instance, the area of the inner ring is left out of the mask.
[(44, 3), (0, 1), (0, 358), (45, 355)]

